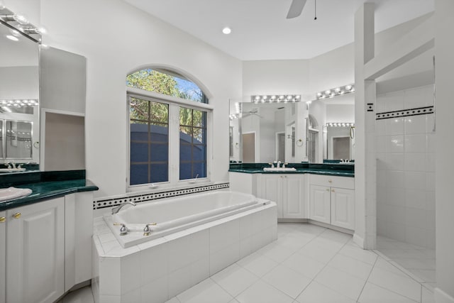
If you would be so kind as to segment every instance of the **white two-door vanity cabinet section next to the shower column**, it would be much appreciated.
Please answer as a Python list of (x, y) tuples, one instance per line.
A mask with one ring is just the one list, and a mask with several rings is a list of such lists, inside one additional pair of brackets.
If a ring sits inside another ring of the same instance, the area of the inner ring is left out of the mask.
[(309, 219), (354, 230), (354, 186), (352, 177), (310, 175)]

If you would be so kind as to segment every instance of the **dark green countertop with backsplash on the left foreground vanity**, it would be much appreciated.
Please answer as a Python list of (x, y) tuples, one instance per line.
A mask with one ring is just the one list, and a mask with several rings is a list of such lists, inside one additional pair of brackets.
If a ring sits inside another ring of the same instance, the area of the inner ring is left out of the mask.
[[(37, 173), (40, 174), (40, 172)], [(32, 190), (32, 193), (26, 197), (0, 202), (0, 211), (34, 204), (48, 199), (63, 197), (74, 192), (92, 192), (99, 189), (95, 184), (93, 184), (93, 182), (86, 180), (85, 178), (76, 179), (75, 177), (82, 177), (82, 175), (80, 173), (74, 173), (74, 171), (71, 171), (70, 174), (67, 172), (62, 172), (62, 174), (53, 172), (50, 177), (49, 173), (46, 173), (45, 177), (35, 176), (31, 178), (31, 175), (29, 174), (24, 175), (26, 180), (35, 179), (30, 180), (29, 183), (21, 181), (16, 182), (16, 180), (14, 180), (15, 182), (11, 182), (11, 184), (10, 182), (4, 182), (4, 184), (2, 184), (4, 185), (4, 188), (11, 186), (17, 188), (29, 188)], [(43, 172), (41, 172), (41, 174), (43, 174)], [(70, 176), (74, 177), (74, 179)]]

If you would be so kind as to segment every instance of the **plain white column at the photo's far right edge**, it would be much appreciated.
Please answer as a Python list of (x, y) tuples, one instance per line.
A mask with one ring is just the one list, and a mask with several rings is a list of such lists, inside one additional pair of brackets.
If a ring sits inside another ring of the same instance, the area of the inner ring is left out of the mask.
[(454, 302), (454, 1), (435, 1), (437, 303)]

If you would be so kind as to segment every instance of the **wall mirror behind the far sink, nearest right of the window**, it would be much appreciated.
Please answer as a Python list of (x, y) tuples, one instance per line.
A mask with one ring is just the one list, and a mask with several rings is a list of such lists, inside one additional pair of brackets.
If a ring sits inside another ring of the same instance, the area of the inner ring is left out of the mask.
[[(231, 100), (231, 162), (301, 162), (298, 148), (303, 141), (297, 125), (304, 118), (297, 115), (297, 109), (305, 105)], [(240, 115), (236, 114), (239, 107)]]

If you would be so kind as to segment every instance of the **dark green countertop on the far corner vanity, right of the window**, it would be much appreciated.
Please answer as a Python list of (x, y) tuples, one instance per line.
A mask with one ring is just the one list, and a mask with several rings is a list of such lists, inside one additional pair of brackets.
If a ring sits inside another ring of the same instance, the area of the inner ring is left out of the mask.
[(270, 172), (263, 170), (262, 163), (255, 164), (236, 164), (230, 165), (229, 172), (244, 172), (247, 174), (315, 174), (315, 175), (331, 175), (338, 177), (355, 177), (355, 165), (339, 165), (339, 164), (309, 164), (309, 163), (291, 163), (287, 167), (295, 167), (296, 170), (284, 172)]

